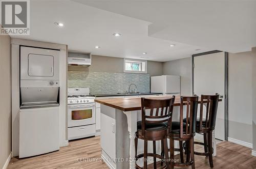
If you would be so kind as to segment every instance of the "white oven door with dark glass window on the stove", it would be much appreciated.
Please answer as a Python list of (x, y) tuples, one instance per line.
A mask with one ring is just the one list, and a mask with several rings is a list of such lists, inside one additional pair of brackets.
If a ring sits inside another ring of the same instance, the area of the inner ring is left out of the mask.
[(95, 124), (95, 103), (68, 105), (68, 127)]

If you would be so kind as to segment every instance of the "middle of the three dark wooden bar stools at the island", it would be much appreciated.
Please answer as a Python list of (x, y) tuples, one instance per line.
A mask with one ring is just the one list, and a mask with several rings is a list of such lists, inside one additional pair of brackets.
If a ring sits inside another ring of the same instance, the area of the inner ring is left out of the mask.
[[(186, 106), (186, 121), (183, 121), (183, 106)], [(190, 166), (195, 168), (194, 158), (194, 136), (196, 134), (198, 96), (180, 97), (180, 121), (172, 122), (172, 127), (168, 137), (170, 139), (170, 168), (174, 166)], [(180, 148), (174, 148), (174, 140), (179, 140)], [(186, 162), (183, 160), (182, 142), (185, 141), (187, 146)], [(174, 152), (179, 151), (181, 156), (180, 162), (174, 162)], [(191, 155), (191, 159), (190, 159)]]

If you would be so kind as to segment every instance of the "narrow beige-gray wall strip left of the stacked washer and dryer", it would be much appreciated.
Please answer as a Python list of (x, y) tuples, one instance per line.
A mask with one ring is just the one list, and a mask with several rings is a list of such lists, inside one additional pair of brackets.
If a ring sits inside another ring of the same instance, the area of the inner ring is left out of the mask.
[[(0, 25), (1, 26), (1, 25)], [(11, 153), (11, 38), (0, 35), (0, 168)]]

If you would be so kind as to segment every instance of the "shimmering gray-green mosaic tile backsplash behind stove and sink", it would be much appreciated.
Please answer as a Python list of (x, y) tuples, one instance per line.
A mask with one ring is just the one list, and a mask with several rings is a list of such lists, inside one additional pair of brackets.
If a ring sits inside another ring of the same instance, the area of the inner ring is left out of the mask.
[(150, 92), (150, 74), (68, 71), (68, 88), (90, 88), (93, 94), (124, 93), (131, 83), (141, 93)]

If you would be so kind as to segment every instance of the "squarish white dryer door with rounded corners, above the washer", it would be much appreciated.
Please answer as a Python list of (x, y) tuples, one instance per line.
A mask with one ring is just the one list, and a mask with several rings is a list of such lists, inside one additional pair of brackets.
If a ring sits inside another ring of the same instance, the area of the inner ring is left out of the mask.
[(53, 60), (52, 55), (32, 54), (28, 55), (28, 74), (29, 76), (53, 76)]

